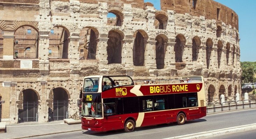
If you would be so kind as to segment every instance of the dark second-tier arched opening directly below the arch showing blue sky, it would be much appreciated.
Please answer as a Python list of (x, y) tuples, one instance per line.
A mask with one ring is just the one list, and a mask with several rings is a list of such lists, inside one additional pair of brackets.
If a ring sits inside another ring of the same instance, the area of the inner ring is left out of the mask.
[(108, 32), (107, 54), (108, 64), (122, 63), (122, 40), (123, 33), (119, 30)]

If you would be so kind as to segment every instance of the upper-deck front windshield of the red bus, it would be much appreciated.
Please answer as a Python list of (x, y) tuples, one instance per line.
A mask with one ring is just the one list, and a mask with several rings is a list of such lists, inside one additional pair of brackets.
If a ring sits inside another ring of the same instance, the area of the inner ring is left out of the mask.
[(84, 92), (98, 92), (99, 78), (86, 78), (84, 80)]

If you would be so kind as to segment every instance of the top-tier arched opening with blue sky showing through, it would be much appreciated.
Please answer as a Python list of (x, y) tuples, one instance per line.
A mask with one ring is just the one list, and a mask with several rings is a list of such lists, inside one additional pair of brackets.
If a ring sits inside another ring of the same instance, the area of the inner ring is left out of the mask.
[(118, 10), (110, 10), (107, 15), (107, 25), (122, 26), (123, 14)]

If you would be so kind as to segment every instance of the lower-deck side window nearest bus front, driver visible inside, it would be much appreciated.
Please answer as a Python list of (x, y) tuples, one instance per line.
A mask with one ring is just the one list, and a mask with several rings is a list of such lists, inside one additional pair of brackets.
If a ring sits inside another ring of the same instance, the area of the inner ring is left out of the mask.
[(115, 98), (106, 98), (103, 100), (104, 103), (104, 115), (115, 114)]

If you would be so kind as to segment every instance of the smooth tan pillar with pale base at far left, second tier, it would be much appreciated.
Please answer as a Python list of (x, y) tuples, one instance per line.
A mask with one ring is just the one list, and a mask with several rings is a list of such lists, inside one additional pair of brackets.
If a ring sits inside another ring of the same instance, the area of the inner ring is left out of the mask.
[(13, 60), (14, 35), (3, 35), (3, 60)]

